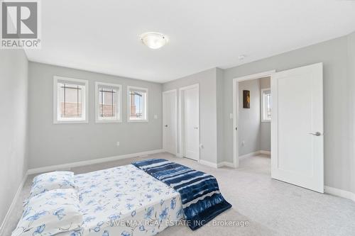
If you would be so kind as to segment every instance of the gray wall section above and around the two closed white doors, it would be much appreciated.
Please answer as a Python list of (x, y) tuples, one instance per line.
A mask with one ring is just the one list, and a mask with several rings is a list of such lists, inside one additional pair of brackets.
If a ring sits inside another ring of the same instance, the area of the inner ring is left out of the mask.
[[(200, 84), (200, 143), (203, 145), (203, 148), (200, 150), (200, 158), (214, 163), (217, 163), (216, 77), (217, 69), (213, 68), (163, 84), (163, 91), (168, 91), (170, 89), (178, 89), (179, 91), (179, 88), (183, 86)], [(221, 77), (221, 74), (219, 74), (219, 77)], [(178, 140), (179, 137), (180, 134), (178, 132)], [(178, 152), (180, 152), (179, 148)]]

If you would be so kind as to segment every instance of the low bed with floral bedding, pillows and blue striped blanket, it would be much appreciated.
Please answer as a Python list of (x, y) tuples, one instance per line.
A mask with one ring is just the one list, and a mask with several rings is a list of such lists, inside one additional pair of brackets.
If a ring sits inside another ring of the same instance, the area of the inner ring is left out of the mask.
[(166, 159), (51, 173), (33, 180), (13, 236), (150, 236), (181, 223), (196, 230), (231, 208), (213, 176)]

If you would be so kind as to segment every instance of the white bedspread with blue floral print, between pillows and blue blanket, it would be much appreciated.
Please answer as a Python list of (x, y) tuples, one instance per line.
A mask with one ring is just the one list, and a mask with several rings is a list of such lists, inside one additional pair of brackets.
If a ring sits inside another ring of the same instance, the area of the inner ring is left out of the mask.
[(82, 230), (70, 236), (155, 235), (183, 218), (180, 194), (129, 164), (75, 176)]

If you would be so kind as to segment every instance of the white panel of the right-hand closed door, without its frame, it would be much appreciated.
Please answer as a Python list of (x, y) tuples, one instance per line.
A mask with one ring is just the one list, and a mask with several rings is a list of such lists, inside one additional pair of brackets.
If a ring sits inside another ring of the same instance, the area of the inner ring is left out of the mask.
[(185, 152), (190, 159), (200, 159), (200, 102), (197, 86), (185, 89)]

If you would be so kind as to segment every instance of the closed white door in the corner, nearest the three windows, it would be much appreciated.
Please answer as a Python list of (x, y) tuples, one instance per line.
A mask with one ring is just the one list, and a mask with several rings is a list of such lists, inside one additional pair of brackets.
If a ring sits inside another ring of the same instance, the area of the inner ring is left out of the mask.
[(176, 154), (176, 90), (163, 92), (163, 150)]

